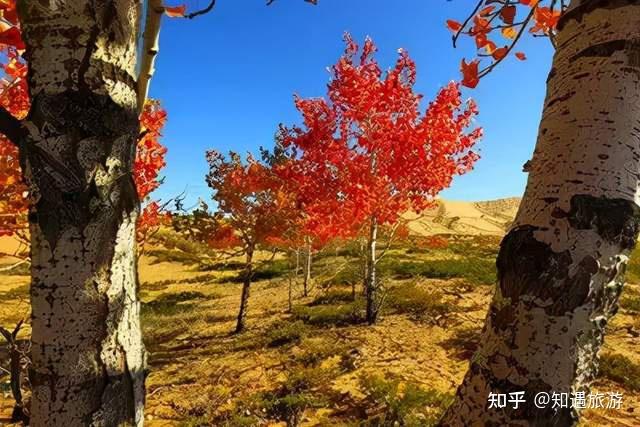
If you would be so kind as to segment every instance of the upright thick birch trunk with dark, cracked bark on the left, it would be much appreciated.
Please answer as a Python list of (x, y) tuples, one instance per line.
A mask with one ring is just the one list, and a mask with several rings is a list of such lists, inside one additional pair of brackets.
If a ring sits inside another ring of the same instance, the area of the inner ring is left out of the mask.
[(27, 1), (31, 425), (142, 425), (137, 2)]

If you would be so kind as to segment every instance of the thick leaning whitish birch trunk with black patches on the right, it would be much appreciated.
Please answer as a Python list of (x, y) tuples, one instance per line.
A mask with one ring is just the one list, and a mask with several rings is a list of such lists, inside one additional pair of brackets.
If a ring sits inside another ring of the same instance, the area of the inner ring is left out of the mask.
[[(441, 424), (569, 426), (537, 393), (587, 391), (638, 234), (640, 4), (574, 2), (480, 348)], [(518, 409), (488, 395), (525, 392)], [(544, 406), (544, 405), (540, 405)]]

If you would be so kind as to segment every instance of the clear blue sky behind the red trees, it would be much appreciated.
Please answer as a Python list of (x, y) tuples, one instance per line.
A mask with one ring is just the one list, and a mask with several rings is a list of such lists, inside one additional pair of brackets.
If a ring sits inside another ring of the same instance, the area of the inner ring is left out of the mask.
[[(178, 2), (175, 2), (176, 4)], [(186, 0), (192, 9), (208, 0)], [(167, 199), (186, 190), (187, 205), (209, 199), (204, 184), (209, 148), (257, 152), (270, 147), (279, 123), (299, 116), (294, 93), (325, 94), (327, 67), (343, 51), (342, 34), (371, 36), (377, 58), (393, 65), (397, 49), (409, 51), (418, 67), (416, 90), (433, 97), (459, 78), (460, 59), (473, 55), (471, 40), (454, 49), (448, 18), (462, 20), (469, 0), (218, 0), (209, 15), (193, 21), (165, 19), (151, 96), (160, 99), (169, 122), (166, 181), (156, 195)], [(486, 200), (519, 196), (523, 163), (534, 148), (552, 49), (545, 39), (526, 37), (519, 50), (528, 59), (507, 59), (465, 97), (480, 108), (482, 158), (454, 180), (442, 196)]]

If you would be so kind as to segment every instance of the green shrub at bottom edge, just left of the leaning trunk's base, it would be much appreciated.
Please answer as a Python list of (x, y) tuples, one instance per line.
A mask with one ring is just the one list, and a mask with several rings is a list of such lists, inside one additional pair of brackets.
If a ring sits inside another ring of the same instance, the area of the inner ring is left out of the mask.
[(360, 387), (368, 406), (377, 412), (368, 420), (376, 426), (435, 425), (453, 399), (451, 394), (379, 375), (362, 376)]

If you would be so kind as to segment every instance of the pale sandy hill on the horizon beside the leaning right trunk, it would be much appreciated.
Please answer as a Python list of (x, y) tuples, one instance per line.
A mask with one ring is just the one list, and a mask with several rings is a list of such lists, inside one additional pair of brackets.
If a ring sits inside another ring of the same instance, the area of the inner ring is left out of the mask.
[(519, 197), (461, 202), (438, 200), (435, 208), (422, 213), (408, 213), (409, 229), (415, 234), (503, 235), (516, 216)]

